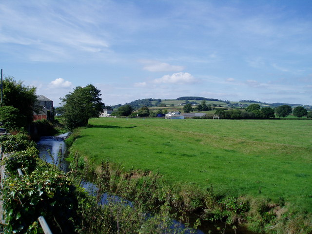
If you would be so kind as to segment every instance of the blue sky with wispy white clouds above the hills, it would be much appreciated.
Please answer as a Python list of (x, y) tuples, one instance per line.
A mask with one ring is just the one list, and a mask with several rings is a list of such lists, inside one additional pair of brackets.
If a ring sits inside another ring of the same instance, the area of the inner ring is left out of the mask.
[(0, 68), (54, 100), (312, 105), (311, 0), (1, 0)]

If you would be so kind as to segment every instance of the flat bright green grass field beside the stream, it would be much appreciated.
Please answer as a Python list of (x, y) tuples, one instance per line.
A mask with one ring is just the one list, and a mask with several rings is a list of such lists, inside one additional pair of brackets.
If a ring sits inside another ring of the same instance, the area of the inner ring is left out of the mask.
[(158, 172), (173, 186), (285, 201), (312, 212), (311, 120), (96, 118), (71, 151)]

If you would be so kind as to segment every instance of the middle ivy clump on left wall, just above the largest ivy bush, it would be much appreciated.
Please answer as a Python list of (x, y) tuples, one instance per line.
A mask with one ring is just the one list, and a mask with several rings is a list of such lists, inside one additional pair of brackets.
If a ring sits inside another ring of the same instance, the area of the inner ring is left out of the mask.
[(39, 151), (35, 147), (30, 147), (6, 157), (4, 160), (6, 172), (15, 175), (19, 168), (27, 174), (34, 171), (39, 158), (38, 154)]

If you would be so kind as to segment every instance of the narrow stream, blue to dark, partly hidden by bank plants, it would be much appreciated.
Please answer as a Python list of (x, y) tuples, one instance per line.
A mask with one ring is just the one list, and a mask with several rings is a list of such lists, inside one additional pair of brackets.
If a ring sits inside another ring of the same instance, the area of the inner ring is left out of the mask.
[[(46, 160), (49, 163), (57, 164), (62, 170), (65, 172), (68, 171), (68, 163), (63, 160), (63, 155), (66, 151), (66, 146), (64, 139), (69, 135), (69, 133), (59, 135), (57, 137), (41, 137), (39, 142), (37, 143), (37, 148), (39, 150), (39, 156), (40, 158)], [(60, 160), (62, 159), (62, 160)], [(95, 195), (97, 191), (97, 187), (95, 184), (91, 182), (84, 182), (81, 185), (83, 188), (85, 188), (90, 194)], [(106, 204), (109, 202), (109, 200), (114, 201), (124, 201), (119, 196), (111, 196), (108, 194), (104, 194), (102, 196), (102, 204)], [(126, 204), (132, 205), (131, 201), (126, 201)], [(195, 222), (196, 217), (190, 217), (191, 223), (192, 221)], [(178, 222), (177, 220), (173, 221), (174, 224), (178, 224), (179, 228), (184, 228), (184, 224)], [(226, 230), (224, 231), (225, 224), (224, 223), (211, 223), (211, 222), (201, 222), (201, 225), (199, 226), (199, 230), (196, 230), (196, 234), (254, 234), (252, 232), (249, 232), (245, 228), (237, 227), (236, 230), (233, 229), (232, 226), (226, 227)], [(186, 232), (187, 233), (187, 232)]]

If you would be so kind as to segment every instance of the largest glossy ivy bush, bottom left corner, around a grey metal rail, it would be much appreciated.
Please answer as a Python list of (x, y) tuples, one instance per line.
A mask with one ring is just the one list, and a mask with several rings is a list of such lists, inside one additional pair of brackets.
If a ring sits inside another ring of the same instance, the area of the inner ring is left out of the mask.
[(75, 191), (70, 179), (47, 164), (29, 175), (6, 178), (2, 190), (4, 234), (38, 233), (40, 215), (53, 233), (73, 233), (78, 204)]

